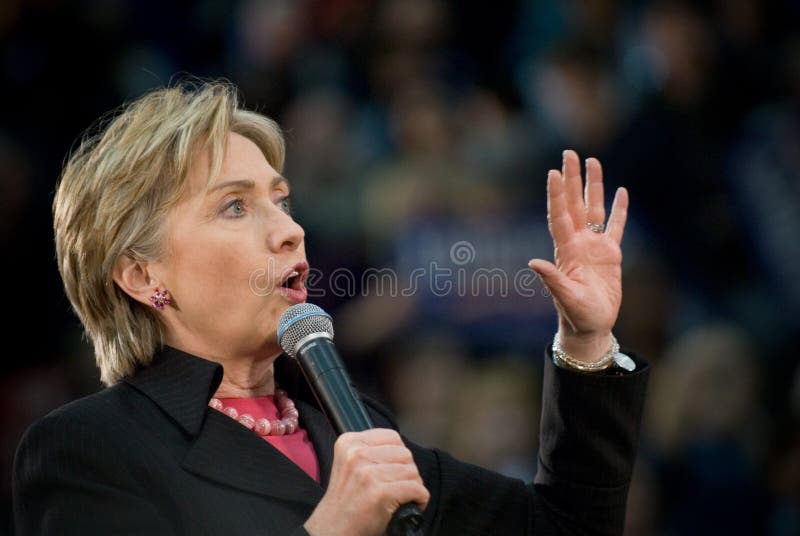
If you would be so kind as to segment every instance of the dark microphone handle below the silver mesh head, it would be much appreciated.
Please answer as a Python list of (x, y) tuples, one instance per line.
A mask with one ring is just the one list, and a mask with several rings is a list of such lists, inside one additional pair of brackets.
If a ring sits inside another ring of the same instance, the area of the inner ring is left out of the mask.
[[(297, 349), (296, 356), (303, 375), (337, 435), (373, 428), (339, 353), (327, 335), (308, 340)], [(389, 536), (419, 536), (421, 531), (422, 512), (414, 503), (400, 505), (386, 529)]]

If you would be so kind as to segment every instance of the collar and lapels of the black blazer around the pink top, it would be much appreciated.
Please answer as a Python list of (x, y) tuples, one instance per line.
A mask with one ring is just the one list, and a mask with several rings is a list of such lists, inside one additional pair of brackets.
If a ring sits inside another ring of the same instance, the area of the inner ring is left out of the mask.
[(209, 410), (208, 401), (222, 381), (219, 363), (165, 346), (149, 366), (125, 382), (193, 437), (181, 462), (188, 471), (240, 489), (314, 505), (330, 478), (336, 434), (294, 360), (281, 355), (275, 362), (275, 378), (298, 405), (301, 424), (314, 444), (322, 487), (262, 438)]

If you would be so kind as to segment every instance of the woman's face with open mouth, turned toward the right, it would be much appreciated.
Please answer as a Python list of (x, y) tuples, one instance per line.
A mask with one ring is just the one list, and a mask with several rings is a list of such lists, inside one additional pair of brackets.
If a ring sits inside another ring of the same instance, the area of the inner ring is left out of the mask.
[(208, 162), (201, 153), (192, 163), (166, 219), (164, 259), (151, 268), (172, 298), (166, 342), (212, 358), (272, 356), (280, 315), (306, 300), (304, 232), (289, 214), (289, 184), (238, 134), (210, 186)]

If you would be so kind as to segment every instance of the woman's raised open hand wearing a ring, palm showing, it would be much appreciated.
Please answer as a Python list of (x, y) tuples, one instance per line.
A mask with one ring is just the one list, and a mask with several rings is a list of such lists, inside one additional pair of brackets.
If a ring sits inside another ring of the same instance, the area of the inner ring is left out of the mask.
[(562, 171), (547, 174), (547, 223), (555, 264), (528, 263), (550, 289), (558, 310), (562, 347), (582, 361), (599, 359), (611, 347), (611, 328), (622, 302), (620, 241), (628, 214), (628, 192), (619, 188), (605, 222), (603, 169), (586, 161), (586, 185), (575, 151), (564, 151)]

